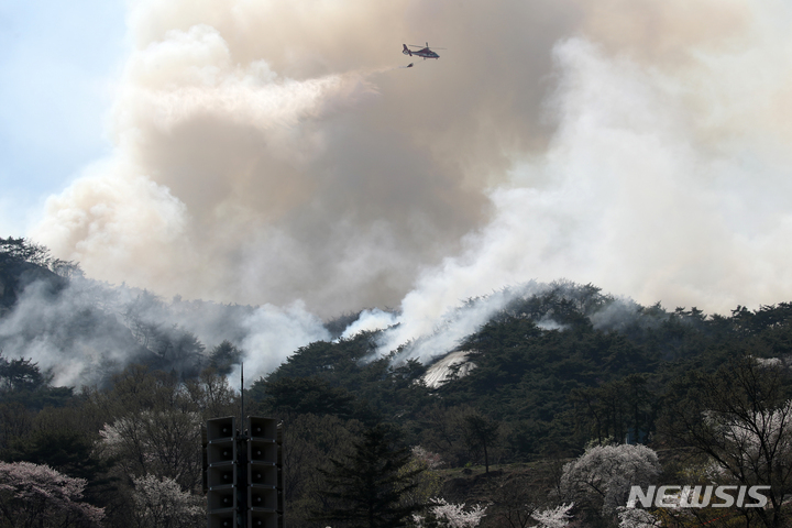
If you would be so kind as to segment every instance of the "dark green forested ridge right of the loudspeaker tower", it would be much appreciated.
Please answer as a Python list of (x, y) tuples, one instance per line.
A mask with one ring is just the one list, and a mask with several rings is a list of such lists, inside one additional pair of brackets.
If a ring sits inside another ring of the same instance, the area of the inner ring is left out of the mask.
[[(290, 417), (323, 416), (349, 424), (352, 431), (392, 424), (400, 429), (405, 443), (433, 453), (436, 463), (444, 468), (481, 464), (486, 471), (492, 464), (541, 462), (546, 471), (530, 479), (507, 471), (494, 475), (488, 486), (466, 488), (466, 494), (454, 493), (459, 483), (449, 483), (455, 477), (447, 483), (451, 488), (438, 488), (461, 502), (490, 504), (482, 526), (534, 526), (536, 519), (519, 505), (560, 507), (560, 497), (569, 496), (560, 485), (562, 461), (583, 457), (592, 446), (644, 443), (664, 453), (681, 449), (684, 461), (664, 455), (669, 458), (662, 469), (657, 468), (657, 485), (711, 484), (715, 479), (729, 485), (772, 482), (777, 497), (789, 496), (787, 474), (763, 475), (765, 481), (750, 476), (745, 466), (751, 462), (740, 460), (760, 454), (730, 452), (739, 442), (723, 438), (723, 430), (712, 430), (707, 416), (719, 410), (732, 425), (754, 420), (748, 430), (774, 435), (776, 443), (779, 430), (792, 435), (784, 421), (789, 417), (781, 419), (780, 428), (761, 426), (777, 409), (785, 413), (784, 402), (792, 398), (792, 305), (755, 311), (738, 307), (728, 317), (705, 316), (695, 308), (667, 311), (656, 305), (639, 307), (622, 319), (597, 321), (596, 314), (617, 302), (595, 287), (566, 283), (514, 302), (460, 343), (458, 350), (466, 351), (475, 367), (438, 388), (424, 383), (425, 365), (415, 360), (394, 362), (399, 351), (372, 360), (376, 333), (363, 332), (301, 348), (254, 383), (250, 394), (266, 414), (286, 422)], [(755, 415), (735, 410), (745, 402), (752, 402), (747, 407)], [(788, 443), (773, 448), (773, 453), (780, 468), (792, 464)], [(724, 476), (725, 470), (707, 475), (717, 454), (737, 460), (730, 477)], [(767, 468), (766, 462), (755, 464)], [(543, 487), (537, 490), (536, 482)], [(514, 492), (513, 486), (524, 492)], [(316, 496), (306, 491), (289, 495), (300, 502)], [(613, 504), (603, 509), (602, 501), (585, 494), (576, 504), (579, 517), (592, 526), (619, 522)], [(729, 521), (737, 515), (744, 526), (765, 521), (765, 526), (782, 526), (776, 524), (785, 518), (781, 504), (774, 509), (778, 515), (765, 520), (754, 510), (743, 510), (729, 514)], [(717, 516), (707, 515), (700, 520), (718, 526)], [(626, 522), (631, 526), (629, 519)]]

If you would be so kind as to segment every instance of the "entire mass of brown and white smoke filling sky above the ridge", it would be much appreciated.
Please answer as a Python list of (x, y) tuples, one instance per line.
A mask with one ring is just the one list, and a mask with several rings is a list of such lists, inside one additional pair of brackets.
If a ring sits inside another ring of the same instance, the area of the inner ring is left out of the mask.
[[(30, 235), (162, 295), (398, 306), (384, 350), (531, 278), (776, 302), (790, 19), (748, 0), (134, 2), (117, 153)], [(416, 40), (448, 51), (391, 70)]]

